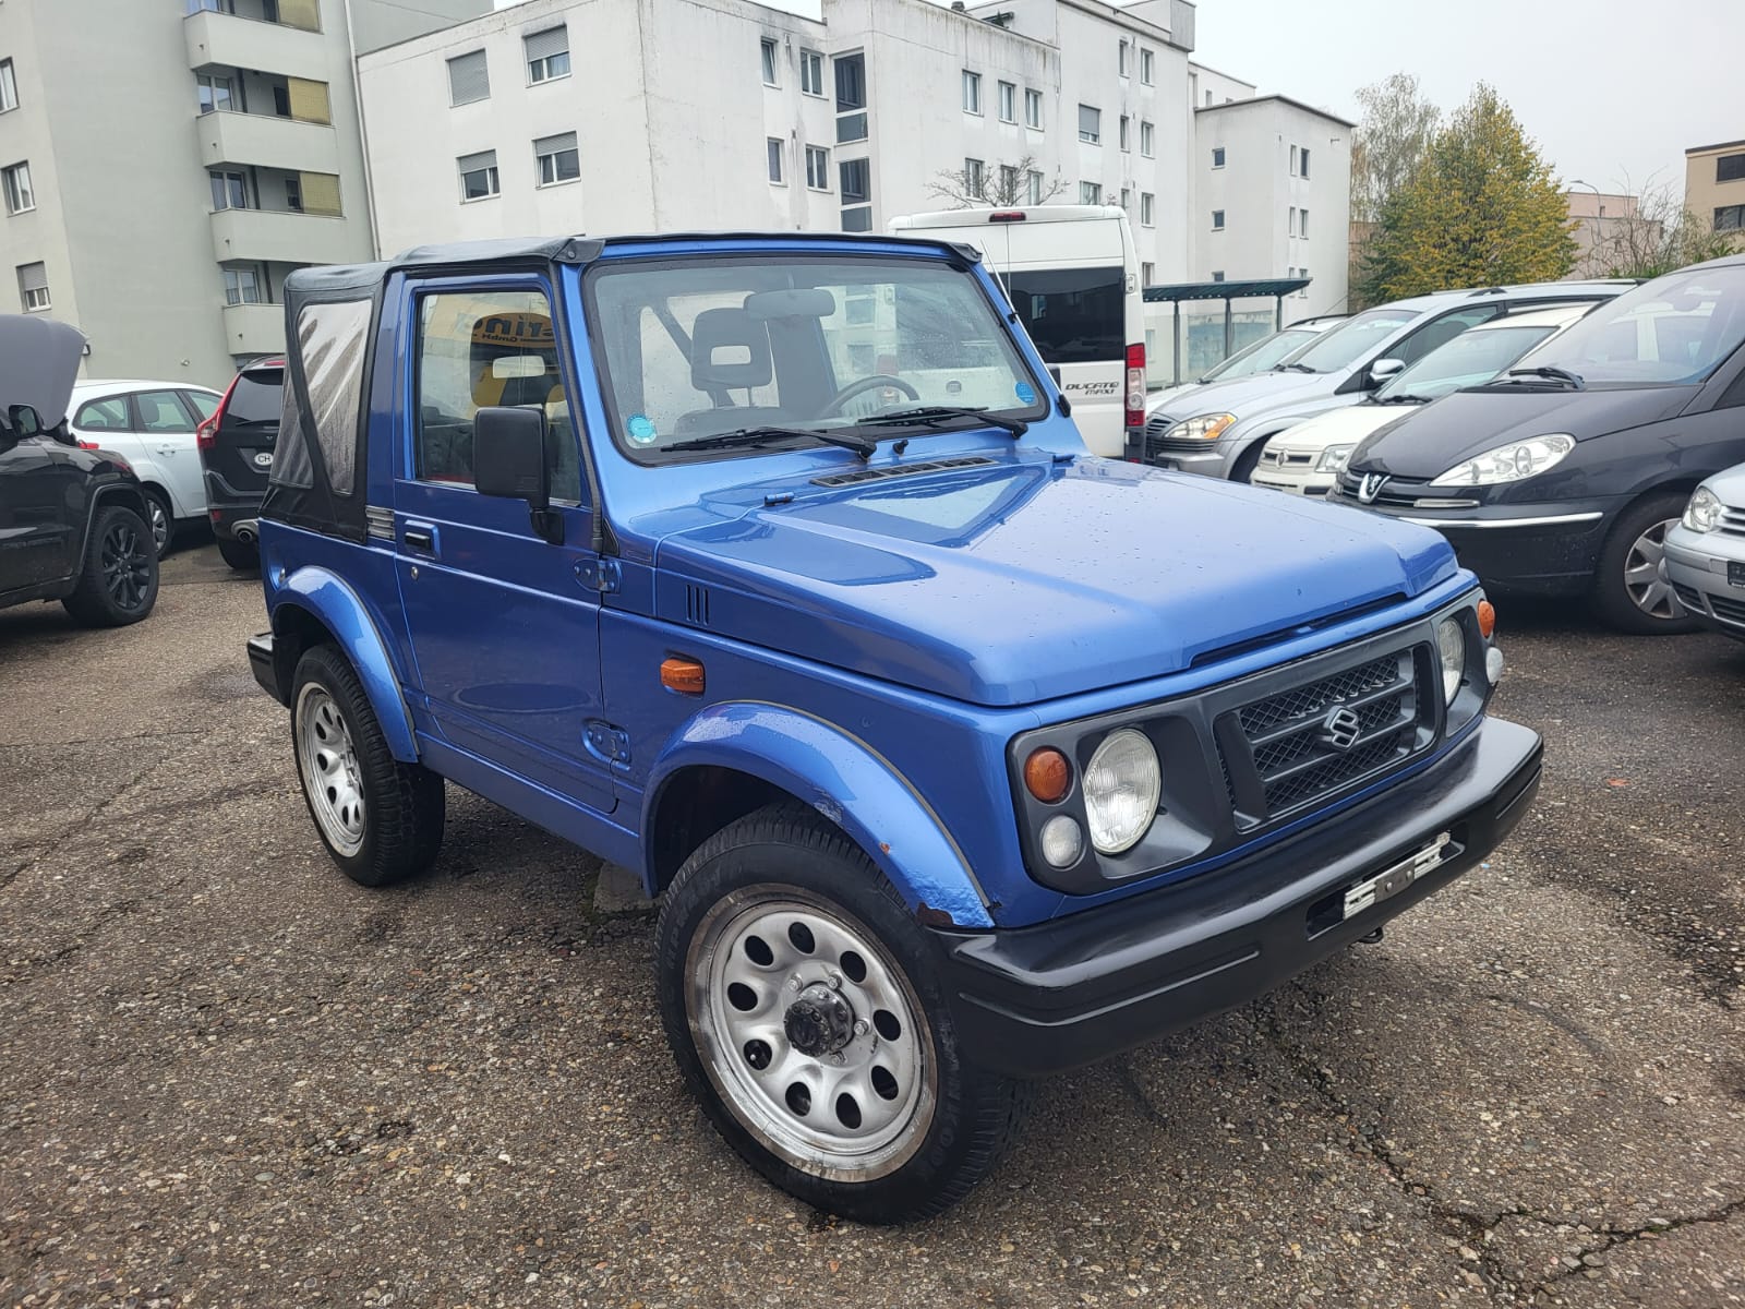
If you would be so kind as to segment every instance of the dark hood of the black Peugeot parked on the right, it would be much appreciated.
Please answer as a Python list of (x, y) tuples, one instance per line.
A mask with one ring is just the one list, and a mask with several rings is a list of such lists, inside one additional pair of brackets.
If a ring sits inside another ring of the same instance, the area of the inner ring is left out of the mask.
[(1565, 433), (1577, 442), (1679, 414), (1696, 387), (1591, 391), (1455, 391), (1379, 433), (1351, 471), (1433, 478), (1485, 450), (1529, 436)]

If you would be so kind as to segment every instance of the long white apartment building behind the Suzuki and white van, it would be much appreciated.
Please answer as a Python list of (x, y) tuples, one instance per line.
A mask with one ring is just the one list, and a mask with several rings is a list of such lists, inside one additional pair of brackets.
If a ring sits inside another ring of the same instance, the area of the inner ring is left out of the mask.
[(1192, 63), (1187, 0), (813, 12), (527, 0), (363, 54), (379, 250), (534, 232), (881, 232), (979, 178), (1017, 202), (1122, 204), (1146, 283), (1307, 269), (1297, 316), (1344, 305), (1333, 251), (1351, 124)]

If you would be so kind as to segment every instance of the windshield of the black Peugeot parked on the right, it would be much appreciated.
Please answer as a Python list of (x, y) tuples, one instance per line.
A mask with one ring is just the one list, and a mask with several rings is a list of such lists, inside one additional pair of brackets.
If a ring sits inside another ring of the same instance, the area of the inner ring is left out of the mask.
[(1548, 340), (1518, 368), (1588, 386), (1701, 382), (1745, 342), (1745, 265), (1686, 269), (1637, 286)]

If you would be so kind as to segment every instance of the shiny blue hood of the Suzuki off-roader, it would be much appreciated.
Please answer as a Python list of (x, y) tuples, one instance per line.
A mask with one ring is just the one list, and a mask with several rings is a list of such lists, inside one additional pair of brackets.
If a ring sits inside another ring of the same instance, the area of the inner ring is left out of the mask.
[(1105, 459), (808, 492), (663, 538), (658, 613), (1021, 705), (1180, 672), (1455, 571), (1410, 524)]

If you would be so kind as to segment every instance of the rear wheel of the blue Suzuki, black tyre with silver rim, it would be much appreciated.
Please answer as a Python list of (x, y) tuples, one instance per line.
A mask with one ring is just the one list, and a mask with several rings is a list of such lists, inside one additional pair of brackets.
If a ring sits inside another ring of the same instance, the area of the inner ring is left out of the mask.
[[(337, 733), (332, 717), (326, 735), (316, 735), (305, 721), (305, 716), (318, 716), (323, 703), (340, 719)], [(323, 742), (332, 749), (323, 750)], [(332, 770), (318, 763), (323, 752)], [(365, 887), (386, 887), (431, 866), (441, 848), (443, 782), (428, 768), (393, 756), (363, 682), (335, 646), (314, 646), (297, 661), (291, 754), (309, 817), (346, 876)], [(340, 777), (358, 801), (354, 841), (347, 840), (347, 824), (339, 817), (344, 798), (323, 784), (325, 777)]]

